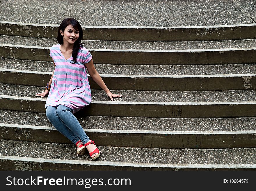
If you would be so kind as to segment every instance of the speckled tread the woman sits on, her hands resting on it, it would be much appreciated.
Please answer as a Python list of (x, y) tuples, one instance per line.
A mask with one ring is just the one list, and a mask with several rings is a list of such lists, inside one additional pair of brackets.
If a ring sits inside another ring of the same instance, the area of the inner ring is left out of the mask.
[[(0, 83), (0, 95), (36, 98), (35, 94), (45, 88)], [(110, 101), (104, 90), (92, 89), (92, 100)], [(256, 102), (256, 90), (227, 91), (136, 91), (111, 90), (122, 97), (114, 98), (120, 102)], [(47, 99), (47, 96), (44, 97)]]

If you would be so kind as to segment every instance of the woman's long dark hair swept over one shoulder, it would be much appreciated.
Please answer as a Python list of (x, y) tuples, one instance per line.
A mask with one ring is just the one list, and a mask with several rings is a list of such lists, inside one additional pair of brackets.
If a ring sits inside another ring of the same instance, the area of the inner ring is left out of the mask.
[(83, 48), (83, 43), (81, 43), (81, 40), (83, 39), (83, 30), (82, 30), (80, 23), (76, 19), (73, 19), (73, 18), (64, 19), (61, 22), (59, 29), (58, 29), (57, 41), (58, 41), (58, 43), (63, 44), (63, 36), (61, 35), (61, 30), (64, 32), (65, 28), (69, 25), (72, 25), (74, 30), (79, 31), (79, 37), (74, 43), (73, 52), (72, 52), (73, 60), (71, 62), (71, 63), (76, 63), (77, 53), (78, 53), (80, 47)]

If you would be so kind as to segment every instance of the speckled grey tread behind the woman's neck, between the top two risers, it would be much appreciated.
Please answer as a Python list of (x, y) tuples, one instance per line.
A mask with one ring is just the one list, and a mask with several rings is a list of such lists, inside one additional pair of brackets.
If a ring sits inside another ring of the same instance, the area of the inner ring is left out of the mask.
[[(57, 37), (57, 36), (56, 36)], [(2, 44), (51, 47), (58, 44), (57, 39), (31, 38), (21, 36), (0, 35)], [(84, 40), (87, 49), (111, 50), (190, 50), (256, 47), (256, 39), (222, 40), (222, 41), (102, 41)]]

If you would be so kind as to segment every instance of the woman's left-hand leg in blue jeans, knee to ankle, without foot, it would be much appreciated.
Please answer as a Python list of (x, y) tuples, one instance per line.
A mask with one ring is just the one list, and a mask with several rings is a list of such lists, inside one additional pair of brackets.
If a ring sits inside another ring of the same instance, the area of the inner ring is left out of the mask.
[(56, 112), (56, 107), (47, 106), (46, 108), (46, 116), (49, 121), (53, 124), (53, 126), (65, 137), (67, 137), (72, 143), (77, 143), (79, 141), (79, 137), (77, 137), (67, 126), (63, 123)]

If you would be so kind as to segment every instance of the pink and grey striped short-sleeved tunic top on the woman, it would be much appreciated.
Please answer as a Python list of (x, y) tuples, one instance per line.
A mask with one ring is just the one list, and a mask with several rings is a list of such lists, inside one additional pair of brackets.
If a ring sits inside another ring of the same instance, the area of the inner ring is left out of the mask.
[(47, 97), (47, 106), (65, 105), (73, 113), (91, 102), (91, 89), (88, 82), (85, 63), (92, 59), (90, 52), (83, 47), (77, 54), (77, 62), (70, 63), (73, 57), (65, 59), (60, 50), (60, 44), (50, 49), (50, 56), (56, 65)]

